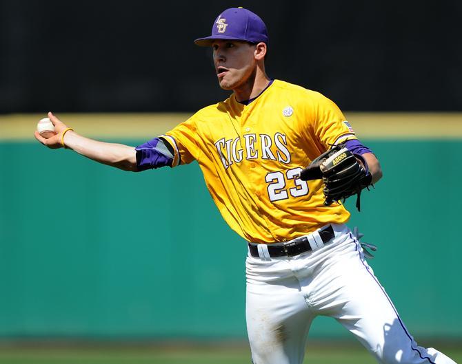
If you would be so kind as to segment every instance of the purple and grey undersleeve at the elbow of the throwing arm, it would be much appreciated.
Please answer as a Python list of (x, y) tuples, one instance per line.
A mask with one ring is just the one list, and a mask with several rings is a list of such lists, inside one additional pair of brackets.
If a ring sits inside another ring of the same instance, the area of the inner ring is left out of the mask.
[(174, 150), (163, 138), (154, 138), (135, 148), (138, 171), (172, 167)]

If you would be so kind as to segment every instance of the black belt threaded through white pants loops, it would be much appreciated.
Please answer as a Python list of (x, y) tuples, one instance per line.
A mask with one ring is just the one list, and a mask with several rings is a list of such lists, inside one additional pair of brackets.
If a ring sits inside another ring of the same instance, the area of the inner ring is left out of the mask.
[[(332, 238), (335, 236), (334, 229), (332, 225), (329, 225), (327, 228), (319, 231), (319, 236), (324, 244), (330, 242)], [(259, 249), (258, 244), (248, 244), (250, 255), (252, 257), (259, 257)], [(266, 244), (268, 246), (268, 252), (270, 253), (270, 257), (283, 257), (284, 255), (287, 257), (294, 257), (295, 255), (299, 255), (301, 253), (308, 252), (312, 250), (310, 246), (310, 242), (308, 242), (308, 237), (299, 237), (297, 239), (292, 240), (291, 242), (282, 244), (282, 245), (272, 245)]]

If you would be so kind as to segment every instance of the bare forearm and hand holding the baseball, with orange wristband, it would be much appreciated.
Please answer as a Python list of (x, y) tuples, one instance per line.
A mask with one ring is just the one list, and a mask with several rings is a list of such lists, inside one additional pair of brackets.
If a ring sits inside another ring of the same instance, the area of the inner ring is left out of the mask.
[(86, 156), (102, 164), (107, 164), (112, 167), (123, 169), (124, 171), (139, 171), (137, 167), (137, 151), (134, 147), (124, 144), (99, 142), (80, 136), (74, 131), (67, 131), (63, 136), (63, 132), (68, 129), (61, 120), (54, 116), (51, 112), (48, 117), (54, 125), (54, 130), (57, 132), (56, 136), (51, 138), (43, 138), (38, 131), (35, 131), (35, 138), (43, 145), (51, 149), (62, 148), (61, 140), (63, 140), (66, 148), (72, 149), (82, 156)]

